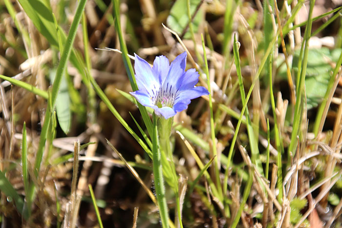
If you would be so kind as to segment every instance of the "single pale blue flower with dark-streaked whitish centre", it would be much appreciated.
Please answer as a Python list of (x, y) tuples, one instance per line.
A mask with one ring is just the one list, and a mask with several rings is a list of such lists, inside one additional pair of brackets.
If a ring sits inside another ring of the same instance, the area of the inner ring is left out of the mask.
[(135, 55), (135, 80), (139, 90), (130, 94), (142, 105), (151, 107), (157, 116), (168, 119), (188, 108), (190, 100), (209, 92), (198, 83), (195, 69), (185, 71), (187, 53), (183, 52), (169, 63), (165, 56), (158, 56), (150, 64)]

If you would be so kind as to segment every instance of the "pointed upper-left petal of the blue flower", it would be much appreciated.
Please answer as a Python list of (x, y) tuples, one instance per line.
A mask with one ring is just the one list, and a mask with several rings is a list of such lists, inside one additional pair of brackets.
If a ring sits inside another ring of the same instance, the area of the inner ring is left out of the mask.
[[(152, 93), (152, 89), (159, 91), (160, 83), (158, 75), (152, 70), (150, 64), (134, 53), (135, 80), (139, 90), (145, 89)], [(155, 91), (154, 91), (155, 92)]]

